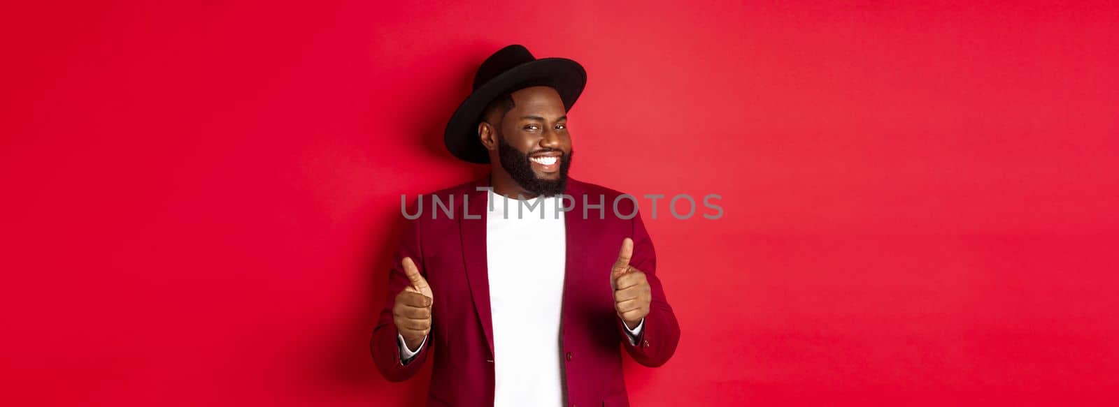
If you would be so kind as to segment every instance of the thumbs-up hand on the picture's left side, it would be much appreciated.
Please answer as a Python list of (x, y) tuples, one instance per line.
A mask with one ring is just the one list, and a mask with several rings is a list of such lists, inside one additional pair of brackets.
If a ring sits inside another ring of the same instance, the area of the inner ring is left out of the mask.
[(427, 332), (431, 332), (431, 304), (434, 296), (427, 281), (420, 275), (415, 263), (412, 263), (412, 258), (404, 257), (401, 264), (412, 285), (396, 294), (393, 322), (396, 324), (396, 331), (404, 337), (408, 349), (416, 349), (424, 337), (427, 337)]

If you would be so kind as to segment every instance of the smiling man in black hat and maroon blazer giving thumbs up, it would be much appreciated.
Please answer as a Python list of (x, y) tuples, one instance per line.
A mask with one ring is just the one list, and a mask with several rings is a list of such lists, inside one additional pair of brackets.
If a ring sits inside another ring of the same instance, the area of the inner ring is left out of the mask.
[(509, 46), (448, 123), (448, 149), (491, 172), (430, 195), (450, 212), (423, 197), (407, 211), (422, 216), (369, 344), (393, 381), (434, 359), (427, 405), (627, 406), (619, 348), (649, 367), (676, 350), (637, 200), (567, 178), (585, 83), (574, 60)]

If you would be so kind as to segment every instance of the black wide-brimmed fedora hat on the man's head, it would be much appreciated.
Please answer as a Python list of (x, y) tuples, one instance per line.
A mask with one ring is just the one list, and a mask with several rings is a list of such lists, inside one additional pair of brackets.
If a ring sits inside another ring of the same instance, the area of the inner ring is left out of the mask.
[(443, 142), (454, 157), (485, 163), (489, 154), (478, 140), (482, 111), (497, 96), (535, 85), (552, 86), (560, 93), (565, 110), (571, 110), (586, 85), (586, 70), (567, 58), (540, 58), (521, 45), (499, 49), (482, 61), (474, 73), (473, 92), (451, 115), (443, 131)]

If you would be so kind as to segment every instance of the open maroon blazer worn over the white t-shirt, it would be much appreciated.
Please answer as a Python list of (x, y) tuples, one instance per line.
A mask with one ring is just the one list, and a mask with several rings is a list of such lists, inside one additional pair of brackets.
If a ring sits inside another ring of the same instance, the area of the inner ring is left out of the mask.
[[(493, 329), (486, 271), (487, 192), (477, 190), (488, 186), (487, 178), (432, 193), (443, 202), (453, 199), (453, 219), (443, 210), (433, 219), (432, 195), (424, 196), (423, 215), (408, 221), (393, 258), (389, 295), (369, 342), (377, 368), (392, 381), (411, 378), (427, 359), (434, 359), (429, 406), (493, 405)], [(566, 401), (568, 406), (628, 406), (619, 348), (639, 363), (657, 367), (676, 351), (680, 329), (657, 278), (656, 253), (641, 217), (623, 219), (614, 214), (614, 198), (621, 192), (568, 179), (566, 193), (575, 204), (564, 216), (567, 257), (558, 338), (563, 354), (556, 356), (564, 358)], [(467, 196), (469, 199), (464, 199)], [(601, 210), (595, 207), (600, 202)], [(621, 199), (618, 212), (633, 214), (634, 204), (636, 199)], [(469, 208), (466, 212), (464, 205)], [(408, 214), (415, 212), (414, 205)], [(478, 219), (466, 219), (466, 215)], [(633, 239), (630, 265), (646, 273), (652, 290), (652, 304), (637, 346), (630, 344), (614, 312), (609, 277), (626, 237)], [(408, 285), (401, 267), (404, 257), (412, 257), (435, 295), (427, 342), (406, 366), (401, 365), (392, 311), (396, 293)]]

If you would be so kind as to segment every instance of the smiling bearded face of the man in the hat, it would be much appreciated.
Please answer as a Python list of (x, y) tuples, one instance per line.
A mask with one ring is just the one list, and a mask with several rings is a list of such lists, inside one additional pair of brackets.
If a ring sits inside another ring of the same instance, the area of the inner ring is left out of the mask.
[(563, 100), (548, 86), (526, 87), (511, 96), (514, 108), (492, 122), (501, 168), (530, 193), (562, 193), (572, 154)]

